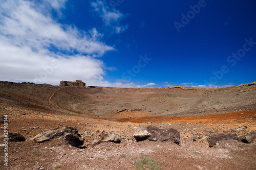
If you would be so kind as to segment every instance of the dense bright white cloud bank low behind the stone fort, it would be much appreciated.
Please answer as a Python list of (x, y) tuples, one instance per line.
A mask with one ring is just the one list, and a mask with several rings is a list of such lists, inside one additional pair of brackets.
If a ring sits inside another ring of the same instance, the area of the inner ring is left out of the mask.
[[(60, 80), (81, 79), (99, 83), (104, 75), (103, 62), (91, 56), (54, 57), (34, 52), (28, 46), (15, 46), (0, 36), (1, 79), (57, 85)], [(51, 54), (52, 55), (52, 54)]]

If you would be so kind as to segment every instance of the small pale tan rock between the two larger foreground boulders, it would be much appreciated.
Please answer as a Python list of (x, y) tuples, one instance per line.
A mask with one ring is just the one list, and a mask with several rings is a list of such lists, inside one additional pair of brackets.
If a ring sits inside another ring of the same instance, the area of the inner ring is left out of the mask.
[(96, 139), (94, 139), (92, 141), (92, 145), (97, 145), (100, 144), (102, 142), (115, 142), (115, 143), (120, 143), (121, 142), (121, 137), (119, 135), (116, 135), (112, 132), (101, 132), (99, 136), (96, 137)]

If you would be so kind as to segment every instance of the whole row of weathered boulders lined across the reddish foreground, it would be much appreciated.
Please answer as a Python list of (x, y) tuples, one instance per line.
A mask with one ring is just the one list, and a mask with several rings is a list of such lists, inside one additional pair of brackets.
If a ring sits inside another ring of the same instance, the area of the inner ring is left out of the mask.
[[(176, 144), (180, 143), (180, 132), (173, 128), (160, 129), (158, 127), (142, 127), (135, 131), (133, 137), (136, 141), (151, 140), (151, 141), (171, 141)], [(5, 135), (0, 136), (0, 140), (3, 140)], [(25, 137), (19, 133), (9, 133), (9, 141), (25, 141)], [(37, 143), (49, 141), (53, 138), (62, 138), (67, 143), (71, 144), (73, 147), (81, 147), (83, 145), (84, 139), (78, 133), (78, 130), (72, 127), (60, 127), (54, 130), (48, 130), (37, 134), (32, 138)], [(244, 143), (251, 143), (256, 139), (256, 130), (250, 130), (244, 135), (238, 137), (236, 133), (224, 133), (224, 134), (212, 134), (207, 140), (209, 147), (216, 147), (219, 141), (224, 140), (237, 140)], [(121, 136), (114, 134), (112, 132), (102, 131), (92, 142), (91, 145), (95, 146), (102, 142), (114, 142), (120, 143)]]

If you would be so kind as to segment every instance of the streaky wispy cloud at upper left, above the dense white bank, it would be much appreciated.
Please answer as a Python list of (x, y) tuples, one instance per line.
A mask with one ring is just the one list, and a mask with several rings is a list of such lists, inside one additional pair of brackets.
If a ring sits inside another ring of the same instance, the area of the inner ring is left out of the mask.
[[(100, 41), (101, 34), (95, 28), (90, 32), (84, 32), (75, 26), (61, 25), (50, 15), (44, 15), (47, 9), (41, 9), (40, 4), (30, 3), (25, 9), (22, 4), (26, 4), (27, 1), (19, 1), (20, 3), (10, 3), (10, 1), (2, 4), (0, 31), (2, 36), (15, 46), (28, 46), (33, 51), (42, 53), (43, 51), (48, 53), (51, 48), (55, 48), (59, 51), (76, 51), (93, 57), (114, 50), (114, 47)], [(19, 8), (24, 8), (20, 14), (16, 12)], [(16, 17), (12, 16), (14, 13)]]

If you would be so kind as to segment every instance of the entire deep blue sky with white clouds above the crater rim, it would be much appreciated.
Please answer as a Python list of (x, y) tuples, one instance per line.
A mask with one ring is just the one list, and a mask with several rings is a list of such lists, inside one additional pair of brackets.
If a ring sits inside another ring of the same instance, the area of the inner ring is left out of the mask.
[(221, 87), (256, 80), (254, 1), (0, 4), (2, 81)]

